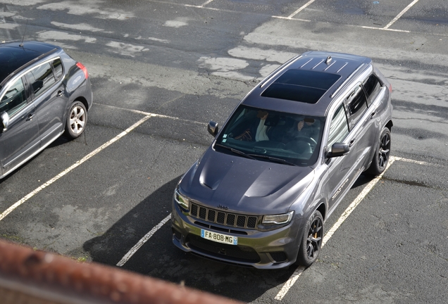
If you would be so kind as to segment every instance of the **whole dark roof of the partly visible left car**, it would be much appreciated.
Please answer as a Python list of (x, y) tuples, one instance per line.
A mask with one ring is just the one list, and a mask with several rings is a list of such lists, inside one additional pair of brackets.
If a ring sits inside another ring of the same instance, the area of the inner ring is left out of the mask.
[(8, 42), (0, 44), (0, 84), (18, 68), (56, 49), (61, 48), (42, 42)]

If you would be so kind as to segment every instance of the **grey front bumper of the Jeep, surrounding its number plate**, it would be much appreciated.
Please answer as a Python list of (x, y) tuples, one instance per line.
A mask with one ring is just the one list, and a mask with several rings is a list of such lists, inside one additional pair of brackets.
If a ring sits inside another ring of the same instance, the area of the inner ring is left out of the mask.
[[(268, 232), (236, 227), (230, 229), (192, 217), (182, 211), (175, 202), (171, 215), (173, 243), (182, 251), (211, 260), (259, 269), (283, 268), (295, 262), (301, 239), (297, 237), (301, 236), (300, 222), (292, 220), (287, 226)], [(236, 236), (238, 244), (235, 246), (203, 239), (201, 229)], [(225, 232), (225, 229), (228, 229), (228, 232)]]

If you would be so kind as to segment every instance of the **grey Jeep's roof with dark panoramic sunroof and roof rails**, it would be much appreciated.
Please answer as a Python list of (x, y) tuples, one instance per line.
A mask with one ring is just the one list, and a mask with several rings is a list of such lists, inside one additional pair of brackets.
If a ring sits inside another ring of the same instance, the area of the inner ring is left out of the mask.
[(324, 116), (337, 89), (371, 62), (370, 58), (344, 53), (306, 52), (273, 72), (243, 103), (270, 110)]

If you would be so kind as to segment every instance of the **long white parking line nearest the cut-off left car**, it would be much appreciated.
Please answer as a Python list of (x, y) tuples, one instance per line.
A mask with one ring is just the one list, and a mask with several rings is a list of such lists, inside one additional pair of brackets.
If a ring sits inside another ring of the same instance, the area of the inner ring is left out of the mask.
[(56, 175), (55, 177), (53, 177), (52, 179), (50, 179), (49, 181), (45, 182), (44, 184), (42, 184), (42, 186), (37, 187), (35, 190), (31, 191), (29, 194), (27, 194), (25, 197), (23, 197), (22, 199), (20, 199), (20, 201), (14, 203), (13, 205), (11, 205), (11, 207), (9, 207), (8, 209), (6, 209), (3, 213), (1, 213), (0, 215), (0, 221), (3, 220), (6, 215), (8, 215), (9, 213), (13, 212), (13, 210), (15, 210), (15, 208), (18, 208), (18, 206), (22, 205), (23, 203), (25, 203), (25, 201), (29, 200), (30, 198), (32, 198), (32, 196), (35, 196), (35, 194), (38, 194), (40, 191), (42, 191), (43, 189), (45, 189), (47, 186), (53, 184), (54, 182), (56, 182), (58, 179), (60, 179), (61, 177), (63, 177), (64, 175), (66, 175), (68, 172), (72, 171), (73, 169), (75, 169), (75, 167), (81, 165), (82, 163), (85, 163), (85, 161), (89, 160), (89, 158), (92, 158), (93, 156), (97, 155), (99, 152), (101, 152), (102, 150), (104, 150), (105, 148), (107, 148), (108, 146), (111, 146), (111, 144), (113, 144), (114, 142), (118, 141), (119, 139), (121, 139), (122, 137), (124, 137), (126, 134), (128, 134), (129, 132), (131, 132), (133, 129), (135, 129), (136, 127), (138, 127), (139, 125), (142, 125), (143, 122), (147, 121), (149, 118), (153, 117), (155, 115), (147, 115), (144, 118), (142, 118), (141, 120), (139, 120), (138, 122), (135, 122), (134, 125), (128, 127), (127, 129), (125, 129), (125, 131), (121, 132), (120, 134), (118, 134), (116, 137), (114, 137), (113, 139), (111, 139), (110, 141), (107, 141), (106, 144), (103, 144), (102, 146), (100, 146), (99, 148), (96, 148), (94, 151), (90, 152), (89, 154), (87, 154), (87, 156), (83, 157), (81, 160), (78, 160), (76, 163), (74, 163), (73, 165), (71, 165), (70, 167), (68, 167), (66, 170), (63, 170), (63, 172), (59, 173), (58, 175)]

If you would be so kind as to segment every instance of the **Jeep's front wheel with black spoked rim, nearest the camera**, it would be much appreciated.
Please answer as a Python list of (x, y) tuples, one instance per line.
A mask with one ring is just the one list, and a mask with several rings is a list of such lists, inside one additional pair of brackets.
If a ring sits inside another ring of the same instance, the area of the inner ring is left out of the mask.
[(304, 227), (296, 265), (309, 267), (318, 258), (323, 239), (323, 217), (316, 210)]

